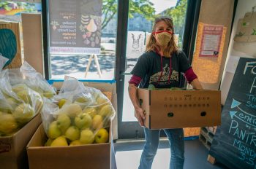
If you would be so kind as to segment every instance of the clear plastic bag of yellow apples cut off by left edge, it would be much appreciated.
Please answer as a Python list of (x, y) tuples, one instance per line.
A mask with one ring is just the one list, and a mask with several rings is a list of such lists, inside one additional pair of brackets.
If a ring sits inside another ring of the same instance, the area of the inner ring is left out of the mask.
[(0, 136), (12, 135), (26, 125), (41, 111), (43, 104), (39, 93), (26, 84), (12, 86), (8, 77), (0, 79)]

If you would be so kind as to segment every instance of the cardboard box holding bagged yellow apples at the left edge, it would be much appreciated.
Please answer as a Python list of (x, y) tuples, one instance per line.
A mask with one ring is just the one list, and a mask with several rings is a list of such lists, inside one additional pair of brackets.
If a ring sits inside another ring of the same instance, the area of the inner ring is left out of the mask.
[(0, 72), (0, 168), (29, 168), (26, 145), (42, 122), (42, 97), (53, 95), (53, 87), (26, 62)]

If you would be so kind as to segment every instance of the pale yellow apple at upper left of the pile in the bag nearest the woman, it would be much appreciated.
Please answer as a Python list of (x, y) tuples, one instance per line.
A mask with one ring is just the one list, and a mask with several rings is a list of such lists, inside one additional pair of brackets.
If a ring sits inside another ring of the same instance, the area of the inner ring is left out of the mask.
[(67, 114), (71, 118), (75, 118), (82, 112), (82, 109), (78, 104), (72, 103), (64, 104), (59, 111), (60, 113)]

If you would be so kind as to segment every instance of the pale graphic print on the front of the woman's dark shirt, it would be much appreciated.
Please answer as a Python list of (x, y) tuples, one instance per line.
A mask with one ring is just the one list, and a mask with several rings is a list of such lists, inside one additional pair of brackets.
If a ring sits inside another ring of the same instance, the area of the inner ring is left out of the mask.
[(159, 79), (159, 76), (161, 76), (161, 71), (159, 71), (156, 74), (153, 74), (152, 76), (150, 76), (149, 84), (156, 83), (158, 81), (158, 79), (159, 79), (158, 84), (160, 84), (160, 85), (170, 84), (170, 83), (173, 83), (173, 81), (178, 82), (178, 71), (173, 70), (171, 72), (170, 82), (168, 81), (169, 74), (170, 74), (170, 67), (168, 66), (168, 64), (165, 64), (165, 67), (162, 68), (161, 79)]

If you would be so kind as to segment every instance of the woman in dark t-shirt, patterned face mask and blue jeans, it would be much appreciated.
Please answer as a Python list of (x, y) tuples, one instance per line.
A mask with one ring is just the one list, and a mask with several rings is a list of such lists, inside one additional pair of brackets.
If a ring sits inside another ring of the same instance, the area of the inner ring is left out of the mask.
[[(135, 117), (144, 126), (145, 116), (140, 108), (137, 95), (138, 85), (148, 88), (154, 84), (156, 88), (179, 86), (179, 75), (184, 74), (187, 82), (195, 89), (202, 89), (197, 76), (189, 65), (184, 52), (178, 50), (173, 37), (173, 20), (170, 17), (159, 17), (155, 20), (152, 34), (146, 45), (146, 52), (140, 56), (132, 70), (129, 80), (129, 98), (135, 107)], [(164, 129), (170, 142), (170, 168), (179, 169), (184, 165), (184, 133), (182, 128)], [(146, 144), (140, 157), (139, 169), (151, 168), (157, 153), (160, 130), (150, 130), (144, 127)]]

